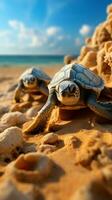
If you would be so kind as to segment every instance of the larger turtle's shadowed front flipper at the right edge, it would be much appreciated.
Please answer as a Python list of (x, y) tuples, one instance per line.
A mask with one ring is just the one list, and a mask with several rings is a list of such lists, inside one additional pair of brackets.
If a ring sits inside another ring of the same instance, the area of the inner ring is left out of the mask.
[(98, 101), (96, 94), (91, 94), (87, 99), (87, 106), (97, 115), (112, 120), (112, 102)]

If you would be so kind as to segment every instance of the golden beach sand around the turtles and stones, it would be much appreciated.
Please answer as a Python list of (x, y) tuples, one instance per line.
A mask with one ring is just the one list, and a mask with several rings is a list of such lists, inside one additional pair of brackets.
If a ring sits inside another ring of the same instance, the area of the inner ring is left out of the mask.
[[(53, 76), (59, 68), (46, 67), (43, 70)], [(11, 109), (14, 94), (14, 91), (7, 94), (4, 92), (17, 82), (23, 71), (24, 68), (0, 68), (0, 95), (3, 94), (0, 99), (1, 116), (4, 106), (9, 106)], [(26, 113), (29, 108), (25, 109)], [(21, 112), (23, 112), (22, 109)], [(0, 187), (9, 180), (23, 193), (33, 191), (32, 188), (36, 187), (38, 199), (46, 200), (81, 200), (82, 195), (83, 199), (87, 200), (88, 194), (92, 196), (89, 199), (97, 200), (97, 194), (103, 191), (102, 199), (107, 200), (107, 195), (111, 193), (112, 181), (112, 176), (109, 176), (112, 164), (112, 126), (94, 122), (94, 114), (88, 109), (75, 111), (73, 118), (69, 121), (59, 119), (55, 130), (58, 142), (51, 147), (44, 147), (44, 150), (41, 148), (42, 153), (53, 162), (53, 169), (47, 178), (43, 178), (36, 184), (18, 181), (10, 176), (10, 173), (6, 173), (8, 164), (4, 165), (1, 162)], [(19, 127), (22, 128), (22, 126)], [(36, 151), (39, 152), (43, 133), (34, 136), (23, 135), (23, 137), (27, 144), (35, 146)], [(29, 150), (29, 152), (33, 151), (32, 148)], [(95, 198), (93, 198), (94, 195)], [(111, 196), (108, 199), (111, 199)]]

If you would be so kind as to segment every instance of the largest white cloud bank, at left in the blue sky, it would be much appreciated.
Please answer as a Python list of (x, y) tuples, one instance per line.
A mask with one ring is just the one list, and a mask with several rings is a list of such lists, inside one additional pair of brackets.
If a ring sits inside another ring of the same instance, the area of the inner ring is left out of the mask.
[(8, 24), (15, 31), (18, 45), (29, 48), (42, 47), (45, 44), (55, 46), (58, 40), (61, 41), (65, 38), (61, 33), (61, 27), (57, 26), (50, 26), (40, 31), (39, 29), (27, 27), (18, 20), (9, 20)]

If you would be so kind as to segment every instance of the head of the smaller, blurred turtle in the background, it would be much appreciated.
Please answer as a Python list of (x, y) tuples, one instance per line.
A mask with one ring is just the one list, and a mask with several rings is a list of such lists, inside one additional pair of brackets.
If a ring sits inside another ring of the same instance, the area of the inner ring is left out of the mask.
[(34, 88), (37, 85), (37, 79), (32, 74), (27, 74), (27, 76), (23, 78), (23, 84), (26, 88)]

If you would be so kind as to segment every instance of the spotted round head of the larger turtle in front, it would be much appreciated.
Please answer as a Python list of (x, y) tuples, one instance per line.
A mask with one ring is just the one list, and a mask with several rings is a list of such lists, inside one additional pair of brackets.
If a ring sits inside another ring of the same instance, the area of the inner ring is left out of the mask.
[(73, 81), (63, 81), (56, 86), (56, 95), (62, 104), (72, 106), (80, 99), (80, 89)]

